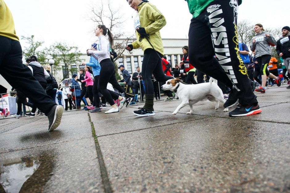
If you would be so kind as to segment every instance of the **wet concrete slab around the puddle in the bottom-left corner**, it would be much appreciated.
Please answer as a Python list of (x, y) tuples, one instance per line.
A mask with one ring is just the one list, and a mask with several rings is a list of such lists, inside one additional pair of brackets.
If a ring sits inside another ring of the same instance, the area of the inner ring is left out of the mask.
[[(40, 165), (25, 183), (23, 181), (23, 186), (18, 185), (20, 192), (103, 192), (93, 138), (1, 153), (0, 174), (7, 166), (24, 163), (9, 172), (10, 176), (25, 176), (24, 169), (32, 167), (33, 162)], [(4, 188), (17, 189), (15, 178), (8, 181)]]

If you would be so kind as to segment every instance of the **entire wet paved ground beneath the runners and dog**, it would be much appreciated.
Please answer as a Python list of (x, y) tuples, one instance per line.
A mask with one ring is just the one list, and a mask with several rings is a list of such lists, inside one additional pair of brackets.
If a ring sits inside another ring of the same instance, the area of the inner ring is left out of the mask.
[(290, 192), (287, 86), (255, 92), (248, 117), (209, 101), (172, 115), (174, 99), (150, 117), (66, 111), (52, 132), (45, 116), (0, 119), (0, 192)]

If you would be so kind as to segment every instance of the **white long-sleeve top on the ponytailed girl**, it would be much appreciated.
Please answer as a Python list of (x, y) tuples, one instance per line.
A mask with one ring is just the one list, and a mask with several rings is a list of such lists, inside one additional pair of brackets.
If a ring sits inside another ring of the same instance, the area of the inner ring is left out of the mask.
[(99, 36), (99, 45), (97, 51), (92, 51), (92, 53), (97, 54), (99, 62), (101, 62), (103, 59), (110, 58), (110, 43), (106, 36)]

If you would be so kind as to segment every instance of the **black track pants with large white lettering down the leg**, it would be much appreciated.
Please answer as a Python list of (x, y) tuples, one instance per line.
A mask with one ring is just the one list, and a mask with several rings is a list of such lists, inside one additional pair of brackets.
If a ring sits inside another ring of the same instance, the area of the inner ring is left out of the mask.
[(238, 54), (237, 11), (237, 1), (215, 0), (198, 17), (192, 18), (188, 58), (197, 70), (233, 89), (241, 105), (255, 105), (257, 97)]

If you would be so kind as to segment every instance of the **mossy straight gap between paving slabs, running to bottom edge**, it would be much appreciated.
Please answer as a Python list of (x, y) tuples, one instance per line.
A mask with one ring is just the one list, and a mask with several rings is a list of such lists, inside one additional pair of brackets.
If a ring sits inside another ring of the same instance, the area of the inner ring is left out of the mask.
[(103, 159), (102, 151), (101, 151), (101, 148), (100, 148), (97, 136), (96, 136), (95, 127), (94, 127), (93, 122), (91, 121), (91, 116), (90, 116), (89, 113), (88, 113), (88, 116), (89, 116), (89, 122), (91, 123), (91, 127), (92, 127), (92, 135), (93, 135), (93, 138), (95, 140), (95, 145), (96, 145), (96, 150), (97, 150), (97, 157), (98, 157), (99, 166), (100, 166), (100, 172), (101, 172), (101, 178), (102, 178), (102, 182), (103, 182), (103, 185), (104, 185), (104, 191), (106, 193), (111, 193), (111, 192), (113, 192), (113, 190), (112, 190), (112, 187), (111, 187), (108, 171), (107, 171), (104, 159)]

